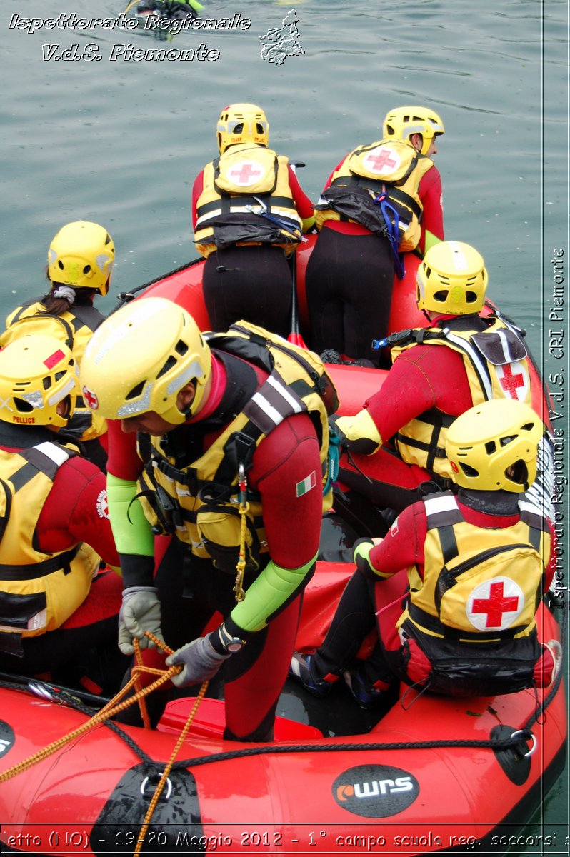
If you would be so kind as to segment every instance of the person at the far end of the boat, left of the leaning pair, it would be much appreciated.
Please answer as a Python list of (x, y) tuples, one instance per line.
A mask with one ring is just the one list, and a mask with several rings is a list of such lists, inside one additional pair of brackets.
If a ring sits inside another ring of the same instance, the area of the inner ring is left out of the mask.
[(217, 136), (219, 158), (192, 188), (210, 324), (221, 331), (243, 319), (287, 337), (295, 250), (315, 224), (313, 203), (285, 155), (267, 147), (269, 123), (261, 107), (225, 107)]

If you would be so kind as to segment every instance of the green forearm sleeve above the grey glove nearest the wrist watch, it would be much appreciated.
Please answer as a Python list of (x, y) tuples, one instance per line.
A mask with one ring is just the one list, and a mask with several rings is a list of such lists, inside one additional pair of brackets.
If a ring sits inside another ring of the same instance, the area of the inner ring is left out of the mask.
[(309, 578), (315, 560), (316, 554), (300, 568), (282, 568), (270, 560), (260, 576), (249, 586), (243, 601), (231, 611), (229, 620), (225, 621), (228, 630), (233, 632), (232, 623), (235, 623), (237, 629), (244, 632), (261, 631), (270, 616)]

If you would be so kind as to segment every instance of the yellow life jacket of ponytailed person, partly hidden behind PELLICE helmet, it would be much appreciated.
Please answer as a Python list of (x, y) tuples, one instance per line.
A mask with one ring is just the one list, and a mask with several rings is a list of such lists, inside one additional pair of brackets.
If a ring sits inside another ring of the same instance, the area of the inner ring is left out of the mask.
[[(6, 319), (6, 331), (0, 338), (0, 346), (4, 347), (21, 336), (45, 333), (63, 340), (73, 352), (75, 366), (79, 371), (85, 347), (104, 319), (105, 315), (95, 307), (75, 307), (66, 310), (62, 315), (53, 315), (42, 309), (40, 301), (30, 301), (10, 313)], [(105, 434), (107, 430), (106, 420), (90, 411), (81, 396), (77, 397), (70, 428), (73, 428), (74, 423), (86, 426), (81, 433), (81, 440), (93, 440)]]

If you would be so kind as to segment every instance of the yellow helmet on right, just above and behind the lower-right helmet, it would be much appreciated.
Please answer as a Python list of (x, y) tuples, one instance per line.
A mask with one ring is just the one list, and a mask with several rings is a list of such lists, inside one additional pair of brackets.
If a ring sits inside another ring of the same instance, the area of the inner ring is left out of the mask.
[(483, 256), (470, 244), (441, 241), (417, 268), (417, 309), (468, 315), (483, 309), (487, 291)]

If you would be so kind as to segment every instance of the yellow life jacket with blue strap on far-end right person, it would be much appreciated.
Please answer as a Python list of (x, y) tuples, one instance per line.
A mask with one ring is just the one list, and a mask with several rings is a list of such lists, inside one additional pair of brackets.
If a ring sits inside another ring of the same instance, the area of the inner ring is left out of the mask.
[(348, 220), (375, 234), (398, 231), (400, 253), (420, 240), (423, 206), (419, 183), (434, 162), (398, 140), (380, 140), (354, 149), (334, 171), (315, 205), (319, 229), (327, 220)]

